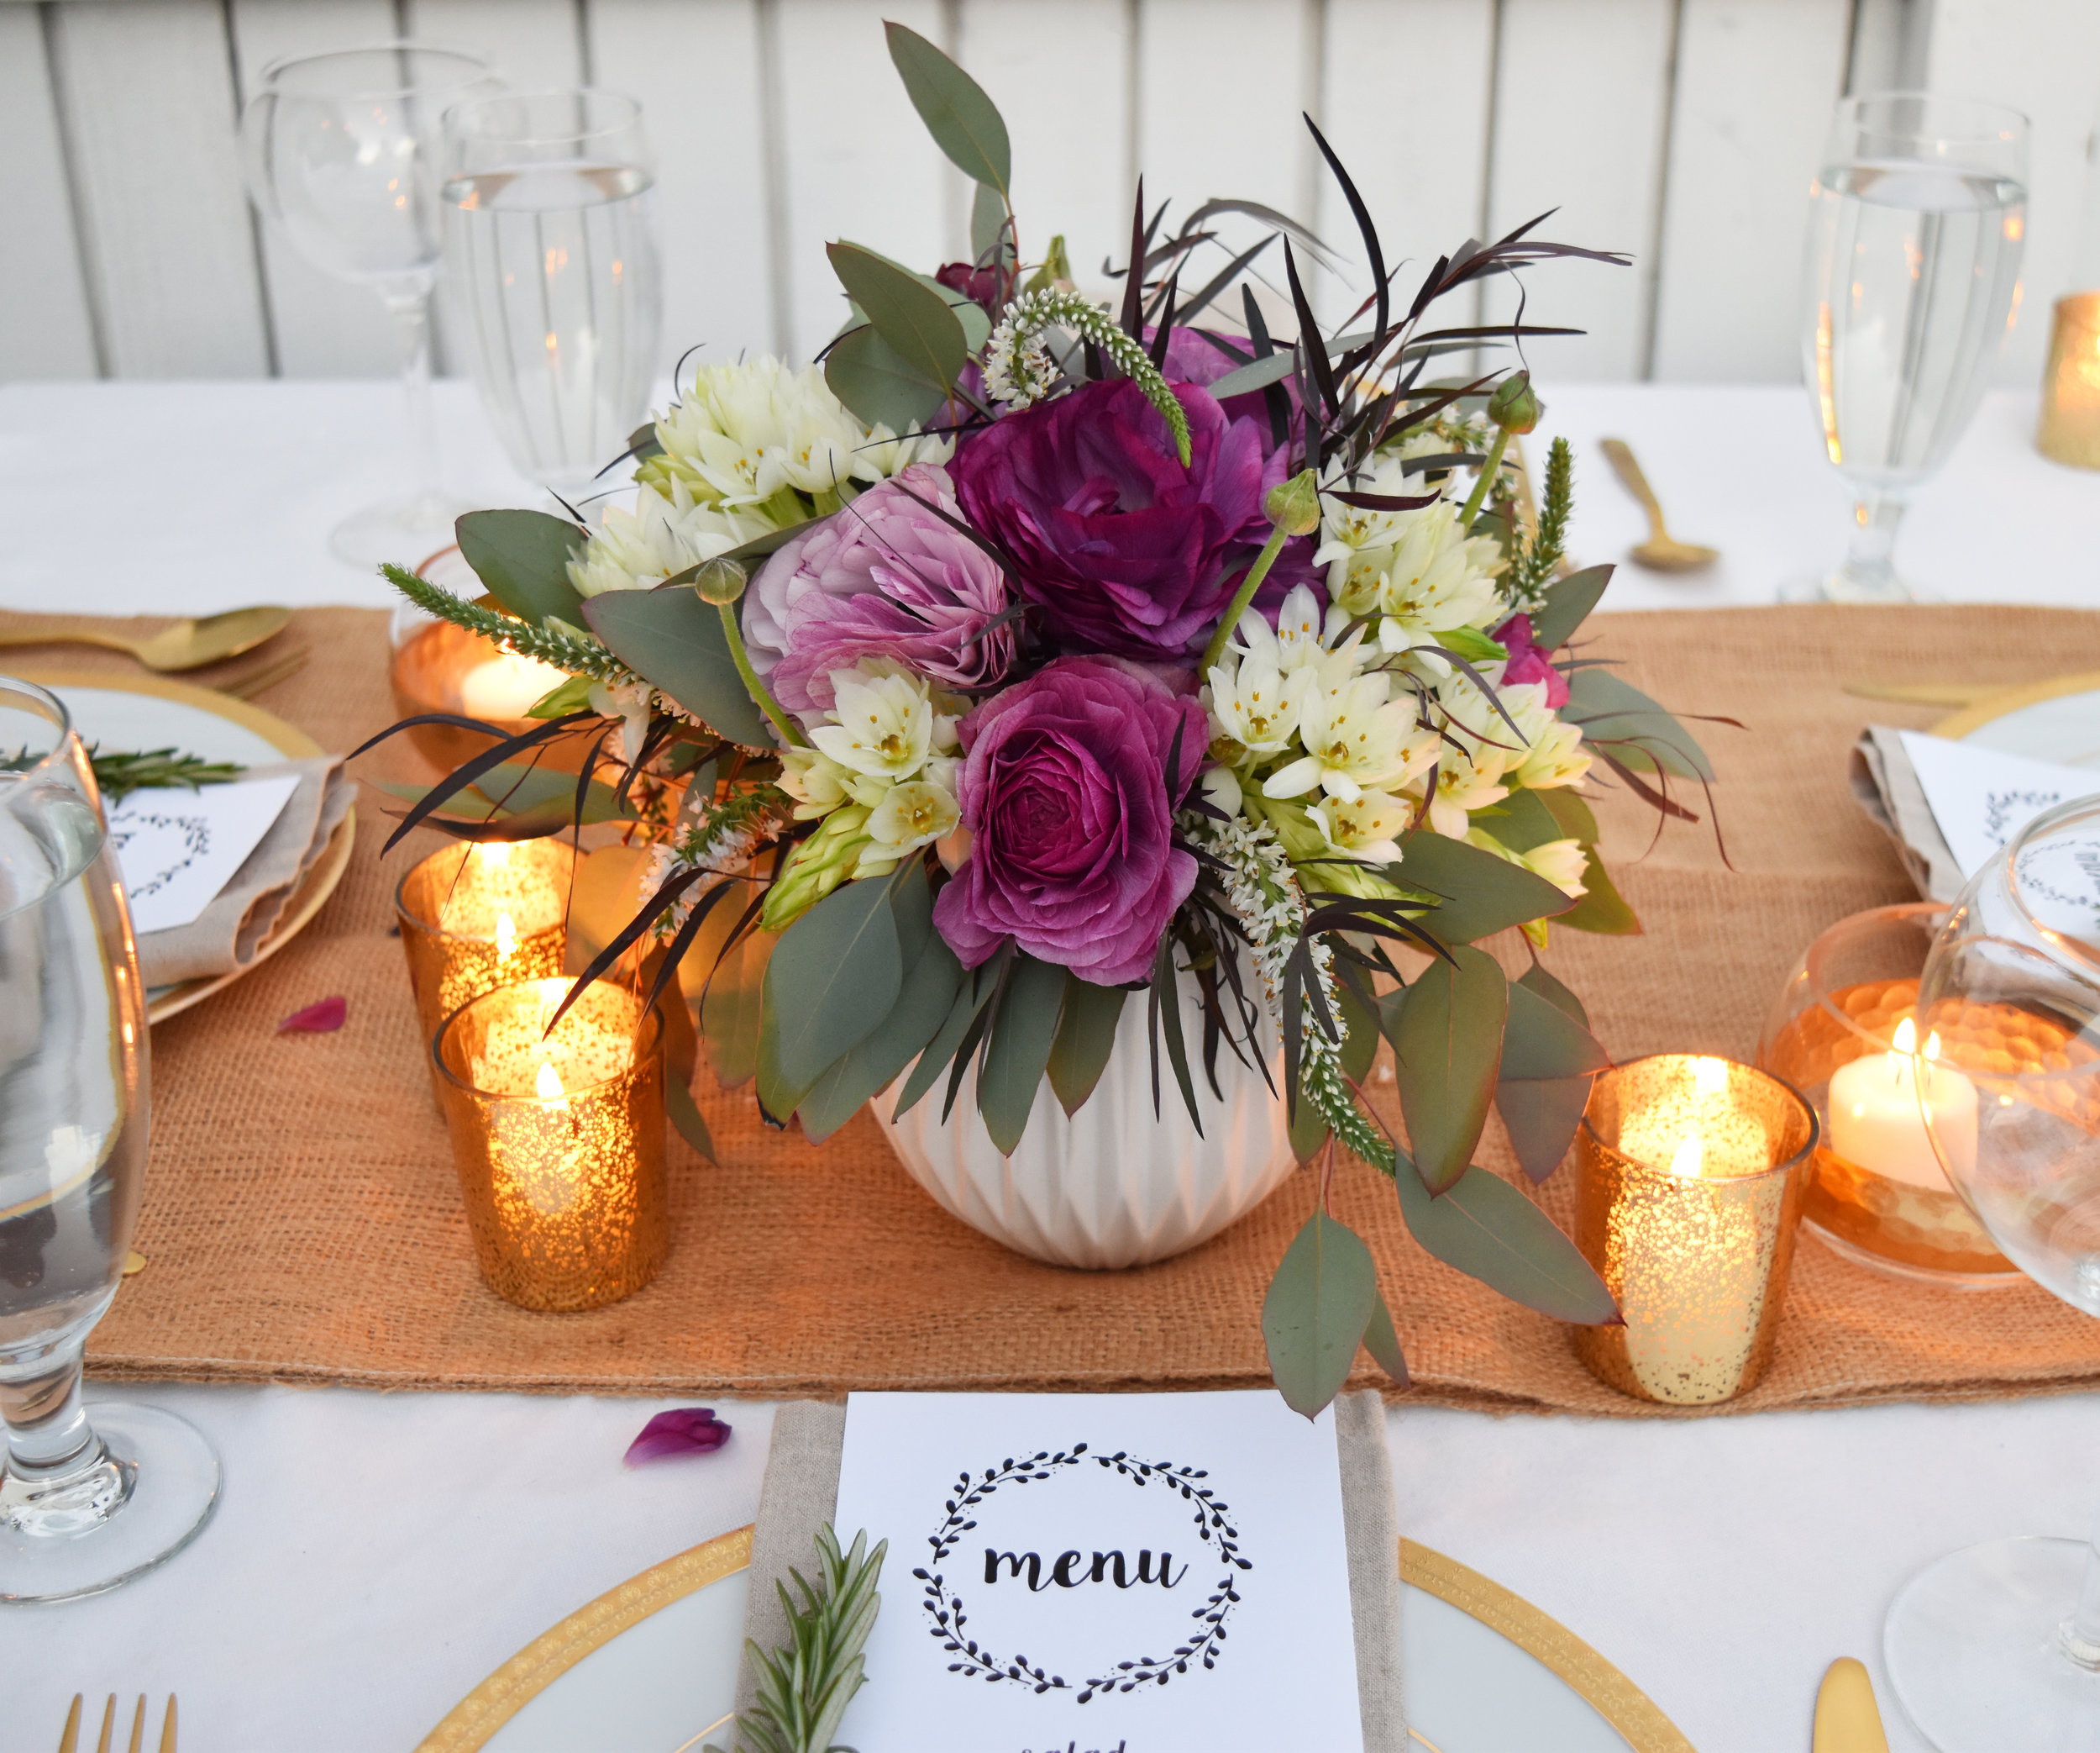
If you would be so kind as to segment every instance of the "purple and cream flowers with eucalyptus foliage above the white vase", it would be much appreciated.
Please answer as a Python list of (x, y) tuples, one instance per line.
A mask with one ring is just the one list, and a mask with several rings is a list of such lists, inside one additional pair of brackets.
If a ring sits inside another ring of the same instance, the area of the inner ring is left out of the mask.
[[(1300, 1160), (1340, 1143), (1388, 1175), (1430, 1253), (1613, 1320), (1567, 1236), (1472, 1154), (1499, 1106), (1544, 1179), (1606, 1064), (1535, 954), (1552, 923), (1638, 929), (1581, 782), (1602, 767), (1688, 816), (1670, 778), (1709, 769), (1575, 654), (1609, 568), (1560, 576), (1562, 444), (1539, 513), (1518, 502), (1529, 374), (1430, 376), (1558, 332), (1432, 326), (1438, 298), (1592, 252), (1520, 227), (1438, 259), (1401, 305), (1312, 128), (1371, 273), (1344, 332), (1315, 322), (1302, 227), (1212, 202), (1166, 233), (1142, 187), (1111, 311), (1073, 290), (1063, 240), (1025, 256), (985, 92), (888, 34), (976, 181), (974, 261), (924, 275), (830, 246), (850, 315), (821, 368), (697, 368), (636, 433), (632, 504), (596, 528), (464, 517), (502, 612), (388, 570), (571, 677), (533, 731), (483, 727), (491, 748), (403, 832), (628, 820), (651, 843), (645, 904), (594, 971), (662, 946), (662, 992), (704, 946), (710, 1057), (811, 1137), (884, 1089), (943, 1114), (968, 1089), (1012, 1152), (1046, 1078), (1067, 1112), (1088, 1101), (1147, 994), (1166, 1099), (1195, 1114), (1231, 1055), (1275, 1087)], [(1275, 229), (1184, 292), (1222, 212)], [(1250, 284), (1279, 242), (1289, 343)], [(544, 769), (556, 748), (563, 774)], [(1510, 927), (1533, 952), (1514, 979), (1478, 948)], [(752, 944), (771, 946), (756, 992)], [(714, 982), (743, 982), (737, 1001), (716, 1005)], [(1380, 1038), (1405, 1146), (1361, 1099)], [(680, 1122), (706, 1148), (691, 1104)], [(1279, 1265), (1264, 1333), (1304, 1410), (1359, 1343), (1405, 1377), (1369, 1253), (1325, 1209)]]

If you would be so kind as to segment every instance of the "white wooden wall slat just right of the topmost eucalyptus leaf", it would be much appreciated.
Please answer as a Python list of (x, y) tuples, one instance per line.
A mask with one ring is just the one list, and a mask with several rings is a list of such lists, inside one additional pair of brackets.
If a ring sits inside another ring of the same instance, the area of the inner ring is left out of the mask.
[(1037, 261), (1063, 233), (1088, 288), (1130, 248), (1130, 48), (1124, 0), (962, 4), (956, 59), (1006, 118), (1021, 250)]

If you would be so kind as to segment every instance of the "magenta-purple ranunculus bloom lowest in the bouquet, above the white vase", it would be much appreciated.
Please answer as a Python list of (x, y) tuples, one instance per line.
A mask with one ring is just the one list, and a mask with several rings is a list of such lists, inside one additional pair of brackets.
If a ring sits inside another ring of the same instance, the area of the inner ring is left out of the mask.
[[(1168, 752), (1180, 731), (1180, 774)], [(1174, 805), (1203, 765), (1203, 706), (1138, 664), (1060, 658), (962, 721), (970, 855), (934, 925), (964, 967), (1008, 940), (1096, 986), (1142, 979), (1189, 891)]]

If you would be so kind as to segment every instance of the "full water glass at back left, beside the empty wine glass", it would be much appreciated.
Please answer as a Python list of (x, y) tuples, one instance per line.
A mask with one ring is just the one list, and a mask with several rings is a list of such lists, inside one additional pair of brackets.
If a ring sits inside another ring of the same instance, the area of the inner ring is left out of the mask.
[(468, 357), (519, 473), (588, 490), (649, 406), (664, 282), (643, 107), (542, 90), (445, 116), (445, 271)]

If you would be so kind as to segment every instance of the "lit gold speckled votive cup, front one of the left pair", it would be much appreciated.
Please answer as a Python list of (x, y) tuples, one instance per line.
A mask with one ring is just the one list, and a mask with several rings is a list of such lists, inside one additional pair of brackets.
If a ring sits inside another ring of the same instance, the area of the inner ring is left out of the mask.
[(632, 1297), (670, 1253), (664, 1022), (603, 979), (470, 998), (435, 1045), (452, 1156), (483, 1282), (519, 1307)]

